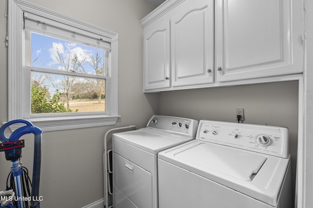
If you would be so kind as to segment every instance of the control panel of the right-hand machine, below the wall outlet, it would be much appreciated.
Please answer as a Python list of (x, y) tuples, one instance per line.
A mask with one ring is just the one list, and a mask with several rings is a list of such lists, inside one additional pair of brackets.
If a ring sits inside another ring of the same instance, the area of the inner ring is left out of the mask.
[(201, 120), (196, 139), (283, 158), (289, 153), (284, 127)]

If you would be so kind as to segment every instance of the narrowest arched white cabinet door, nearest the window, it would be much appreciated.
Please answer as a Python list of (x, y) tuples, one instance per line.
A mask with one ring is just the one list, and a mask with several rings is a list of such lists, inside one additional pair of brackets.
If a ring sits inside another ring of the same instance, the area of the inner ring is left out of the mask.
[(170, 87), (170, 22), (157, 19), (144, 28), (144, 89)]

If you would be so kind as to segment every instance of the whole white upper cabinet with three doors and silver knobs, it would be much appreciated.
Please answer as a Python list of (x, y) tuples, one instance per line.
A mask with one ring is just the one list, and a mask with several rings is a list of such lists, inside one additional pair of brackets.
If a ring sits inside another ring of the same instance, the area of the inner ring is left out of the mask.
[(140, 21), (144, 91), (298, 76), (303, 71), (302, 7), (301, 0), (166, 0)]

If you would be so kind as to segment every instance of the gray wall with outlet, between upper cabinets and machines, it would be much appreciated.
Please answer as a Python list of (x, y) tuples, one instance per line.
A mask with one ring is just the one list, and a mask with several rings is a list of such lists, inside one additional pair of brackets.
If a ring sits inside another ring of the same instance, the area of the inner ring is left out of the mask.
[(298, 144), (298, 81), (162, 92), (159, 113), (193, 119), (236, 122), (244, 108), (244, 123), (289, 129), (293, 193)]

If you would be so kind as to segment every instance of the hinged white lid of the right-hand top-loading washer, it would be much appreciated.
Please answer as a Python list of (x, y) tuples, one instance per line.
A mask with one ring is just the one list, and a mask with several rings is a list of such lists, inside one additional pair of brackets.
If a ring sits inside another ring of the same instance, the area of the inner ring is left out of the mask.
[(181, 151), (175, 156), (244, 181), (251, 181), (267, 159), (262, 155), (206, 145), (205, 143)]

